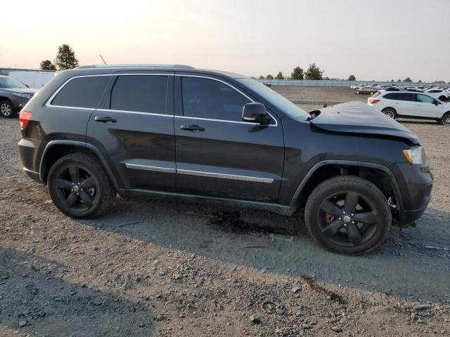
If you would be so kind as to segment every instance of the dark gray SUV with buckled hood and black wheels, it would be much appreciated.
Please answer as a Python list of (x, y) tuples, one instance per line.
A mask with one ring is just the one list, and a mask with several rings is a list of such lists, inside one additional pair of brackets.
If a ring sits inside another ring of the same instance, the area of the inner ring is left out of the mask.
[(420, 141), (364, 103), (304, 112), (264, 84), (188, 66), (65, 71), (20, 112), (25, 172), (60, 211), (98, 216), (116, 194), (304, 209), (311, 236), (361, 253), (425, 211)]

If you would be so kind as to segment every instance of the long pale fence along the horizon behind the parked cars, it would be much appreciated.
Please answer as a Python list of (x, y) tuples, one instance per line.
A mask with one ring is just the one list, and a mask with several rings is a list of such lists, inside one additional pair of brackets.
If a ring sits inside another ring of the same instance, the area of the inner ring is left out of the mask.
[(258, 81), (273, 86), (354, 86), (357, 84), (380, 84), (392, 86), (442, 86), (443, 83), (419, 82), (382, 82), (382, 81), (338, 81), (338, 80), (307, 80), (307, 79), (258, 79)]

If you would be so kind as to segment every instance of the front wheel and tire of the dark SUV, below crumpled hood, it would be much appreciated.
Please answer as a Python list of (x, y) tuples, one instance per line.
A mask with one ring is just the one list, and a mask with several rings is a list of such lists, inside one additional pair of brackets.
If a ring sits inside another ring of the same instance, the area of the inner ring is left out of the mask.
[(319, 184), (308, 198), (304, 219), (317, 244), (345, 254), (377, 248), (392, 225), (383, 192), (356, 176), (337, 176)]

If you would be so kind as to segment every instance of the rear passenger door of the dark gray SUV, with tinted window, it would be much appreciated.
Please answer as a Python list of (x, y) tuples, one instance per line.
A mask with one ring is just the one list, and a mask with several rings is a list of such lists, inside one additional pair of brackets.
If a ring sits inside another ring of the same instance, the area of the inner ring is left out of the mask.
[(173, 191), (175, 139), (172, 73), (115, 74), (87, 128), (120, 187)]

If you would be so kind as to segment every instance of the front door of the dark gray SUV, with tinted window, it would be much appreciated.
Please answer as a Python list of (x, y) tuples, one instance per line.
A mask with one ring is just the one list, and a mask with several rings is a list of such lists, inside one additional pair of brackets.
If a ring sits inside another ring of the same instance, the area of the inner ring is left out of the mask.
[(242, 120), (252, 99), (228, 81), (176, 76), (176, 188), (186, 194), (276, 201), (283, 129)]

